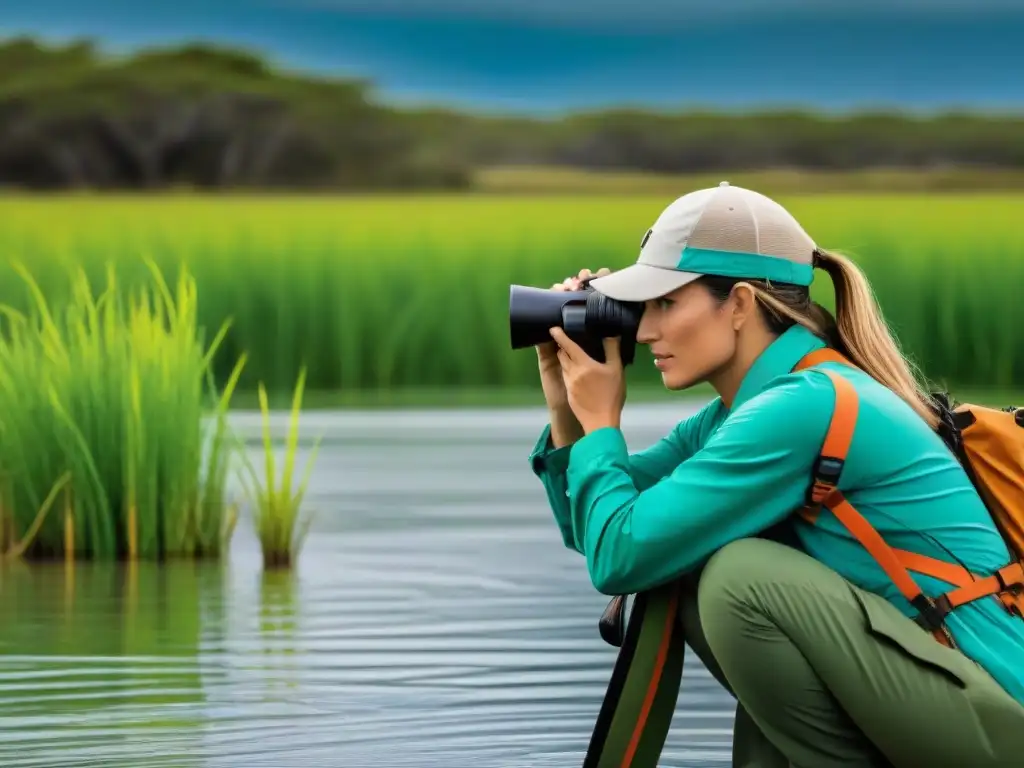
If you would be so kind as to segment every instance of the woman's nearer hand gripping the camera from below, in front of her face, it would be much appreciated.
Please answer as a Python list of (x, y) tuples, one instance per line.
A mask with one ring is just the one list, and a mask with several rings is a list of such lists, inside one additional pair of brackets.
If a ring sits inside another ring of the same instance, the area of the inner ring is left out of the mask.
[(552, 328), (569, 408), (586, 434), (618, 427), (626, 404), (626, 377), (620, 340), (603, 339), (604, 362), (598, 362), (560, 328)]

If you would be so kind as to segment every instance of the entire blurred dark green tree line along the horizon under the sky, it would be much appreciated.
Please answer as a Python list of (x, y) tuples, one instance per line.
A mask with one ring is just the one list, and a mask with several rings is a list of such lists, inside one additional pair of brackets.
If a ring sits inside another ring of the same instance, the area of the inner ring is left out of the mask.
[(0, 186), (460, 188), (474, 169), (666, 173), (1024, 168), (1024, 116), (602, 111), (559, 120), (400, 110), (372, 83), (210, 45), (103, 55), (0, 42)]

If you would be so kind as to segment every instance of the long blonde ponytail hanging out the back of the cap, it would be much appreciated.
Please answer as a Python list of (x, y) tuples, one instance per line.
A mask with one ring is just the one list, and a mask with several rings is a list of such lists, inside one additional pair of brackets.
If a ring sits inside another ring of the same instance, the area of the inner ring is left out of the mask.
[(818, 250), (817, 265), (836, 290), (836, 334), (839, 349), (880, 384), (902, 397), (932, 429), (939, 416), (919, 383), (920, 372), (900, 351), (882, 316), (867, 278), (846, 256)]

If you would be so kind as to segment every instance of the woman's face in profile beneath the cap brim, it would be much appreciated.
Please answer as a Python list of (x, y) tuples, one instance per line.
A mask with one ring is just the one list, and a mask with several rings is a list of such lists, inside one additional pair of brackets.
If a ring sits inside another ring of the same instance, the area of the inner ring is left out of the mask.
[(690, 283), (645, 303), (637, 341), (650, 347), (662, 381), (685, 389), (723, 369), (736, 351), (735, 313), (730, 298), (722, 303)]

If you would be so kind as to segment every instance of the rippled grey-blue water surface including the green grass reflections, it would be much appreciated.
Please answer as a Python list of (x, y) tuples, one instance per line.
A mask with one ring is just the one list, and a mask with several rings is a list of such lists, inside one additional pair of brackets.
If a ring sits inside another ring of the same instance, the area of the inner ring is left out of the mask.
[[(628, 409), (631, 447), (691, 410)], [(245, 520), (222, 565), (0, 572), (0, 765), (580, 765), (615, 651), (529, 473), (544, 419), (310, 415), (291, 573)], [(689, 653), (662, 765), (728, 765), (732, 713)]]

